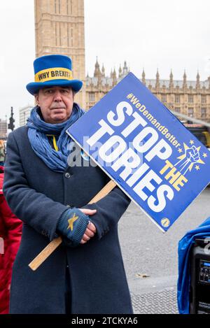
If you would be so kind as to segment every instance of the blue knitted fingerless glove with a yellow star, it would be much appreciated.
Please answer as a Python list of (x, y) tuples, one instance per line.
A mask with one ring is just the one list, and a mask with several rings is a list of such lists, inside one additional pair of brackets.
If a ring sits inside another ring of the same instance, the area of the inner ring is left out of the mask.
[[(69, 245), (79, 245), (83, 234), (89, 223), (89, 216), (85, 215), (78, 208), (69, 208), (62, 213), (57, 223), (57, 231), (64, 237), (68, 238), (72, 243)], [(64, 238), (66, 240), (66, 238)], [(68, 245), (68, 243), (66, 243)]]

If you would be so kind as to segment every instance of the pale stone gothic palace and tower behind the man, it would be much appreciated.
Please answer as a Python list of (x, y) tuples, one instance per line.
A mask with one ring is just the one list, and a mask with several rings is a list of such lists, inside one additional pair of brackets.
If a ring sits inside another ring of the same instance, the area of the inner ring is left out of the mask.
[[(85, 24), (84, 0), (34, 0), (36, 57), (62, 54), (71, 57), (73, 76), (83, 80), (83, 91), (76, 101), (85, 109), (90, 109), (109, 92), (129, 69), (126, 62), (118, 71), (113, 69), (110, 76), (105, 75), (104, 65), (95, 63), (94, 76), (85, 76)], [(167, 108), (179, 113), (210, 122), (210, 77), (200, 81), (189, 81), (186, 72), (183, 80), (174, 80), (171, 71), (168, 80), (161, 80), (159, 72), (155, 79), (146, 78), (143, 71), (140, 80), (162, 101)], [(20, 110), (20, 125), (27, 118), (27, 108)], [(23, 120), (24, 115), (24, 120)]]

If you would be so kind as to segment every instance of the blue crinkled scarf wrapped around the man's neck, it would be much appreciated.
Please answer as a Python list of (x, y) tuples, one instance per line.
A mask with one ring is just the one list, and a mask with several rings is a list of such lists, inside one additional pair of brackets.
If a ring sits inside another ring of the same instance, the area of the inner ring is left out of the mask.
[[(85, 111), (78, 104), (73, 104), (73, 110), (69, 120), (59, 124), (49, 124), (41, 119), (41, 110), (38, 106), (31, 110), (27, 120), (28, 137), (31, 147), (38, 157), (55, 172), (64, 172), (67, 166), (67, 158), (71, 150), (68, 149), (71, 137), (66, 129), (76, 122)], [(59, 135), (57, 141), (58, 151), (54, 150), (48, 141), (47, 134)]]

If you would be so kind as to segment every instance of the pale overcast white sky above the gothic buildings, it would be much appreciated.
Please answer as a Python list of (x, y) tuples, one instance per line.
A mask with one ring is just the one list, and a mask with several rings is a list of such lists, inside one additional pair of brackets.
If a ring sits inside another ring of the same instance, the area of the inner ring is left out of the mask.
[[(94, 64), (105, 72), (127, 61), (141, 78), (188, 80), (210, 76), (209, 0), (84, 0), (86, 73)], [(34, 80), (34, 0), (0, 0), (0, 118), (34, 104), (25, 89)]]

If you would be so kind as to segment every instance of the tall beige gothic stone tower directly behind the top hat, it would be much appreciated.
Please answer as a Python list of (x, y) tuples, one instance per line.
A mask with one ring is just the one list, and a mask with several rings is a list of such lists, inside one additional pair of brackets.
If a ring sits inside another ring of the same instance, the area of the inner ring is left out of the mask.
[(34, 0), (36, 57), (67, 55), (73, 77), (83, 80), (76, 101), (85, 108), (84, 0)]

